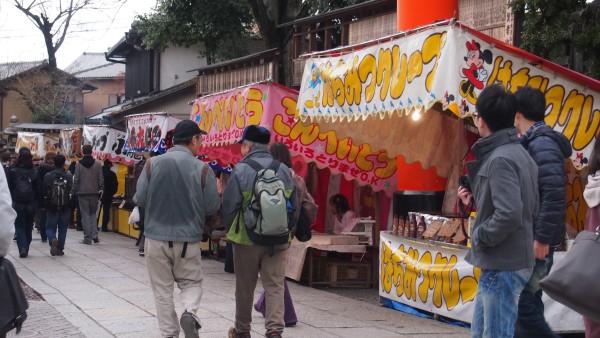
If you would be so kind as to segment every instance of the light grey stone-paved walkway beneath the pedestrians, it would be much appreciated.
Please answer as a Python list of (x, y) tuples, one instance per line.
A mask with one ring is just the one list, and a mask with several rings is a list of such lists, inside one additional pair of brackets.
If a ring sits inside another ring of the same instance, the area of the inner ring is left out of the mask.
[[(134, 240), (100, 233), (101, 242), (89, 246), (79, 244), (81, 238), (81, 232), (69, 230), (62, 257), (50, 256), (37, 234), (27, 258), (18, 258), (12, 245), (9, 258), (19, 276), (45, 301), (30, 301), (23, 331), (9, 337), (160, 337), (145, 261)], [(202, 264), (200, 336), (227, 337), (235, 315), (235, 277), (223, 272), (221, 262)], [(469, 337), (464, 328), (288, 284), (299, 322), (286, 328), (284, 337)], [(259, 283), (255, 299), (261, 291)], [(253, 311), (252, 320), (253, 336), (264, 336), (262, 316)]]

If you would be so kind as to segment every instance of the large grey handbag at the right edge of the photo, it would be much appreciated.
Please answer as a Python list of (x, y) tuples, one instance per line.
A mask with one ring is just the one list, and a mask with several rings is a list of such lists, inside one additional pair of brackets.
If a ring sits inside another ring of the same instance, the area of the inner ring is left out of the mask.
[(563, 260), (540, 280), (548, 296), (596, 322), (600, 322), (599, 229), (580, 232)]

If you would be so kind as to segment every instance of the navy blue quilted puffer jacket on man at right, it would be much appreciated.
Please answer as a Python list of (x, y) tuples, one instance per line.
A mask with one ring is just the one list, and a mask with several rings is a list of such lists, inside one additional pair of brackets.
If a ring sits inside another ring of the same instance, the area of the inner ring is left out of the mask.
[(533, 238), (544, 244), (558, 245), (565, 237), (565, 159), (571, 156), (571, 144), (563, 134), (546, 125), (536, 128), (521, 144), (538, 165), (540, 209), (533, 221)]

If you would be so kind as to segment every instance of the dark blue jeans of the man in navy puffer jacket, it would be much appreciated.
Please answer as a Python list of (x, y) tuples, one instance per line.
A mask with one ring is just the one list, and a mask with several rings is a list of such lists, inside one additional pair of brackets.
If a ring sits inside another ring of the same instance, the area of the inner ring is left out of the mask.
[(540, 280), (548, 275), (552, 267), (554, 248), (550, 248), (544, 259), (536, 259), (533, 273), (519, 297), (519, 316), (515, 325), (515, 337), (558, 337), (544, 319), (544, 303)]

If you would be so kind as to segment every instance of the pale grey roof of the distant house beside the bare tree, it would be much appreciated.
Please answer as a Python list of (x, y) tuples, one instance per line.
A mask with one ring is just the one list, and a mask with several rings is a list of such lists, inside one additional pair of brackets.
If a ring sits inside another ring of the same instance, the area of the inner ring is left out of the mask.
[(104, 53), (83, 53), (65, 72), (79, 79), (108, 79), (125, 73), (125, 65), (106, 61)]

